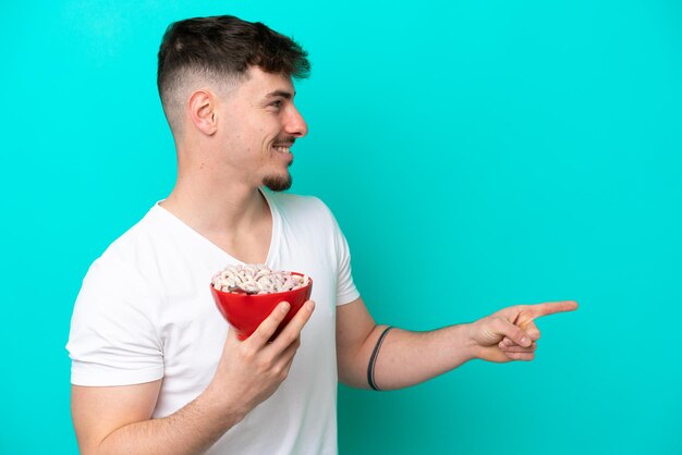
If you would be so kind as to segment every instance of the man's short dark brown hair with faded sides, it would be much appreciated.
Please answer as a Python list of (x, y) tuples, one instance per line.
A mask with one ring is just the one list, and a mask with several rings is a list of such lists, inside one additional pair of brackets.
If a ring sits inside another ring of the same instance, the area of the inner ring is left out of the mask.
[(296, 79), (310, 72), (307, 52), (260, 22), (221, 15), (170, 24), (159, 48), (157, 85), (171, 131), (180, 126), (187, 84), (228, 87), (244, 81), (251, 66)]

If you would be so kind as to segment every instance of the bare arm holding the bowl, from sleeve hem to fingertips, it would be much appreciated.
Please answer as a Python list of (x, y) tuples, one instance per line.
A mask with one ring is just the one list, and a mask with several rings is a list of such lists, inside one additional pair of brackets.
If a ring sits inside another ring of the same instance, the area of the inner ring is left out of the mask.
[(287, 378), (301, 330), (313, 312), (308, 302), (272, 343), (288, 306), (280, 304), (246, 341), (234, 331), (216, 374), (196, 399), (172, 415), (151, 419), (161, 380), (145, 384), (72, 386), (72, 416), (81, 452), (88, 454), (198, 454), (275, 393)]

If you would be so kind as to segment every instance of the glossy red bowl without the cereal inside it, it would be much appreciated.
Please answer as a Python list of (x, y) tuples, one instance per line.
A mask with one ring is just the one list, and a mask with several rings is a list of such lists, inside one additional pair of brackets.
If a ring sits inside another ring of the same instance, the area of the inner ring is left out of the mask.
[[(294, 275), (303, 276), (303, 273), (291, 272)], [(236, 330), (236, 335), (244, 341), (252, 335), (272, 310), (282, 302), (289, 302), (291, 308), (280, 322), (279, 327), (270, 341), (275, 340), (282, 331), (284, 325), (291, 321), (296, 312), (301, 309), (306, 300), (310, 299), (313, 291), (313, 279), (308, 276), (307, 286), (299, 287), (293, 291), (285, 291), (275, 294), (235, 294), (218, 291), (212, 283), (209, 284), (210, 292), (216, 300), (216, 306), (227, 321)]]

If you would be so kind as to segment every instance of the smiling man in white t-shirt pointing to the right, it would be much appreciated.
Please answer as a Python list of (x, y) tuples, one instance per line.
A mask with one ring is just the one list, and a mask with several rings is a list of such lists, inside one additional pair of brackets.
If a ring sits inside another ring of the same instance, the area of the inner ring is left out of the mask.
[[(516, 306), (427, 333), (377, 325), (329, 209), (278, 193), (307, 133), (292, 77), (308, 70), (296, 44), (260, 23), (168, 28), (158, 86), (178, 180), (93, 263), (78, 294), (68, 348), (84, 454), (334, 454), (338, 378), (388, 390), (474, 358), (531, 360), (534, 319), (577, 307)], [(215, 308), (210, 278), (240, 262), (315, 280), (272, 343), (287, 303), (243, 342)]]

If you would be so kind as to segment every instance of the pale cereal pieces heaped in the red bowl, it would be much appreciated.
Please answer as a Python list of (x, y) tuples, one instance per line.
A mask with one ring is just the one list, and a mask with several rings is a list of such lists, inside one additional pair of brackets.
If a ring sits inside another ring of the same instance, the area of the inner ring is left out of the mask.
[(273, 294), (307, 286), (308, 275), (275, 271), (263, 263), (228, 266), (211, 280), (215, 288), (222, 292), (247, 294)]

